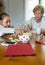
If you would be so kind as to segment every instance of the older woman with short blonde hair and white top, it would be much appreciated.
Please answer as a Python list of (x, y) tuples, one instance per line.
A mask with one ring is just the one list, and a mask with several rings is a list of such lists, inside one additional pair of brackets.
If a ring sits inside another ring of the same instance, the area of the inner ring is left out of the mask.
[(40, 29), (42, 32), (45, 31), (45, 17), (44, 14), (44, 8), (41, 5), (37, 5), (33, 9), (33, 13), (35, 17), (32, 17), (24, 26), (24, 31), (28, 32), (30, 29), (37, 31), (37, 29)]

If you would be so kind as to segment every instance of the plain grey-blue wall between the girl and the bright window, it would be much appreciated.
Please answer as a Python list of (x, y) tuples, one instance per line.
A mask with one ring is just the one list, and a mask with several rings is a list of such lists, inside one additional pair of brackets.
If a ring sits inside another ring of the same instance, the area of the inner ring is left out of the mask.
[(24, 25), (24, 0), (3, 0), (5, 12), (11, 17), (11, 25), (22, 28)]

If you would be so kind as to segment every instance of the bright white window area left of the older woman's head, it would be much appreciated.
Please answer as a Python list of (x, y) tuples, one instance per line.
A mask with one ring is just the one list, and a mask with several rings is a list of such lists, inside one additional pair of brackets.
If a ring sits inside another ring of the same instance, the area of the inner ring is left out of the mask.
[(25, 0), (25, 20), (33, 17), (33, 8), (39, 4), (39, 0)]

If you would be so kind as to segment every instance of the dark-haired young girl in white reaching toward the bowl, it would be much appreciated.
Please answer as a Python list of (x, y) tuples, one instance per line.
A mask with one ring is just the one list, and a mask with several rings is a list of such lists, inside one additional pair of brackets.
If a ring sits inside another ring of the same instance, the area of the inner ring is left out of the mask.
[(4, 33), (16, 33), (21, 34), (20, 29), (10, 28), (10, 16), (7, 13), (0, 15), (0, 36)]

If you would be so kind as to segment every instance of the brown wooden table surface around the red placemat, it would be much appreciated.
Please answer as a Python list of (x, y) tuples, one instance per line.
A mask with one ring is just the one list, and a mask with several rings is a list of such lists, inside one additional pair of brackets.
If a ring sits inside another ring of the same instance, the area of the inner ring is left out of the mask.
[(45, 45), (31, 41), (36, 56), (4, 57), (6, 46), (0, 44), (0, 65), (45, 65)]

